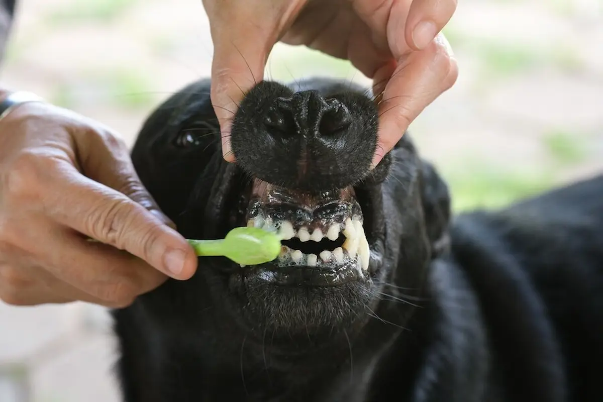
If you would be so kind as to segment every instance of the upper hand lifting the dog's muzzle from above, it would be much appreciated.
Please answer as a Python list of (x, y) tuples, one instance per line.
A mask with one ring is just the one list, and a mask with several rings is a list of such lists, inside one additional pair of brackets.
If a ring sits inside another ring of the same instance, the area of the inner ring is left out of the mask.
[(230, 120), (244, 92), (263, 79), (268, 55), (279, 40), (346, 58), (373, 79), (380, 116), (373, 166), (458, 77), (452, 51), (438, 34), (452, 17), (456, 0), (203, 0), (203, 4), (214, 45), (212, 103), (229, 162), (234, 160)]

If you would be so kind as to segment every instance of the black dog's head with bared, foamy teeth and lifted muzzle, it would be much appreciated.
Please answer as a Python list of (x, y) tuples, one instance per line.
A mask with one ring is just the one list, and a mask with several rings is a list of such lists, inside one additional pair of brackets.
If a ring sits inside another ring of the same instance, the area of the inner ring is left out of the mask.
[(219, 238), (246, 225), (279, 233), (273, 262), (204, 257), (191, 280), (164, 285), (172, 293), (162, 301), (215, 307), (233, 327), (270, 330), (273, 342), (358, 333), (396, 300), (386, 297), (392, 290), (420, 289), (449, 216), (446, 186), (408, 134), (370, 169), (377, 108), (367, 91), (336, 80), (292, 87), (264, 81), (247, 93), (232, 116), (236, 163), (222, 159), (209, 80), (160, 105), (132, 154), (183, 236)]

